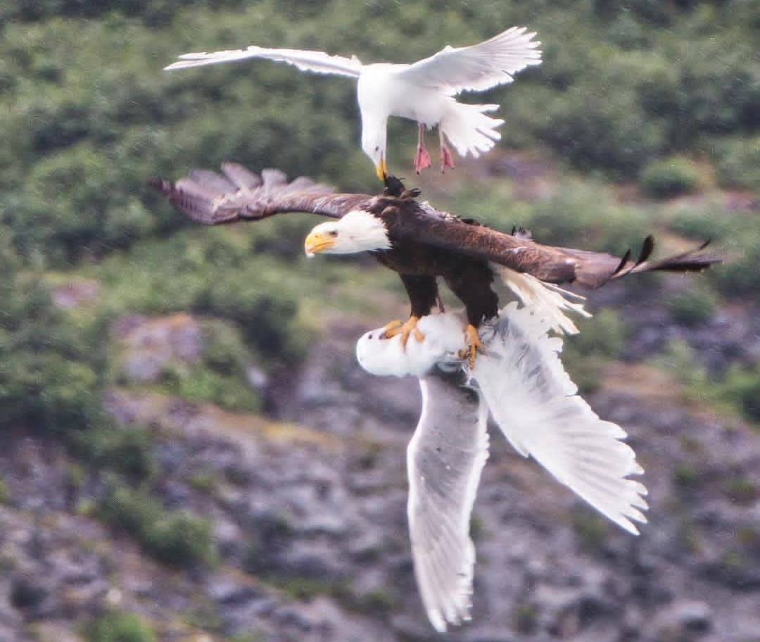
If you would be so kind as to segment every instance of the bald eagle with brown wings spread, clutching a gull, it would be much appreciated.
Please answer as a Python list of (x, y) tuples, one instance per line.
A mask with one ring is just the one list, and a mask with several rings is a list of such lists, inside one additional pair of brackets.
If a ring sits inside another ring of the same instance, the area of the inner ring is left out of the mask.
[(504, 234), (475, 221), (432, 208), (416, 199), (417, 190), (406, 190), (401, 181), (386, 178), (382, 195), (336, 194), (329, 186), (306, 177), (289, 183), (279, 170), (263, 170), (261, 176), (239, 164), (224, 163), (223, 175), (192, 170), (176, 183), (155, 179), (150, 183), (179, 211), (203, 224), (258, 221), (272, 215), (301, 211), (336, 219), (317, 225), (306, 237), (306, 253), (350, 254), (369, 252), (401, 277), (411, 303), (409, 319), (386, 326), (385, 334), (401, 334), (406, 345), (421, 317), (439, 301), (438, 279), (464, 304), (467, 314), (467, 358), (473, 365), (483, 351), (477, 328), (499, 312), (499, 298), (492, 288), (497, 272), (524, 301), (541, 300), (553, 316), (554, 329), (573, 332), (575, 326), (562, 310), (569, 293), (559, 284), (598, 288), (609, 281), (638, 272), (669, 270), (693, 272), (720, 262), (695, 249), (665, 259), (649, 261), (652, 237), (644, 240), (638, 259), (630, 252), (616, 258), (609, 254), (535, 243), (526, 234)]

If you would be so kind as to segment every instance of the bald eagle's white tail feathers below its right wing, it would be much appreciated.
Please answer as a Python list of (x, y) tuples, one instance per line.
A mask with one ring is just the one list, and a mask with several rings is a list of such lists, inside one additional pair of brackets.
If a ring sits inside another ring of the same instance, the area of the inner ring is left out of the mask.
[(559, 288), (550, 283), (526, 274), (515, 272), (504, 265), (493, 265), (507, 288), (520, 300), (524, 306), (533, 306), (534, 310), (546, 316), (549, 326), (559, 334), (575, 335), (578, 328), (567, 313), (575, 313), (585, 318), (591, 316), (584, 310), (585, 297), (580, 294)]

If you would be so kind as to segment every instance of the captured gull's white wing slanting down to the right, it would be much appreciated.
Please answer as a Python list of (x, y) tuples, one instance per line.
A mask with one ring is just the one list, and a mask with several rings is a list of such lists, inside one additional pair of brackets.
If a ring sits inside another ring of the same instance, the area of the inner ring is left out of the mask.
[(638, 534), (646, 522), (647, 489), (625, 431), (602, 421), (578, 396), (559, 361), (562, 339), (549, 337), (550, 318), (512, 303), (494, 325), (480, 327), (486, 354), (473, 377), (491, 414), (515, 449), (533, 456), (562, 484), (610, 520)]

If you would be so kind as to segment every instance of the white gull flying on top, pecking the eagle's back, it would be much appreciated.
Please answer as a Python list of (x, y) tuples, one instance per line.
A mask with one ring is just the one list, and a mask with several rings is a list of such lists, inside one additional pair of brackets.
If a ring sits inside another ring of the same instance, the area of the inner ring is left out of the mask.
[(525, 27), (511, 27), (483, 43), (466, 47), (445, 46), (429, 58), (411, 65), (378, 63), (363, 65), (356, 56), (330, 56), (321, 51), (265, 49), (251, 45), (246, 49), (185, 53), (166, 67), (184, 69), (215, 65), (249, 58), (266, 58), (295, 65), (302, 72), (335, 74), (356, 78), (356, 94), (362, 114), (362, 149), (375, 164), (380, 180), (388, 175), (386, 166), (386, 127), (388, 116), (401, 116), (418, 123), (414, 169), (419, 173), (430, 165), (423, 140), (425, 128), (438, 126), (441, 171), (454, 167), (454, 157), (446, 141), (458, 154), (478, 157), (501, 138), (496, 128), (502, 119), (486, 113), (499, 105), (458, 103), (454, 96), (463, 91), (485, 91), (510, 83), (514, 75), (529, 65), (541, 62), (540, 42)]

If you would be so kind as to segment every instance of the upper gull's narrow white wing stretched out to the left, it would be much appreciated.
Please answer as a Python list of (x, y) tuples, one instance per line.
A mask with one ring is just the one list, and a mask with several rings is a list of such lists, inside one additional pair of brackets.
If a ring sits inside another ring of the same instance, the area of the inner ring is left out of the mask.
[(166, 70), (200, 67), (201, 65), (216, 65), (219, 62), (232, 62), (249, 58), (266, 58), (277, 62), (287, 62), (295, 65), (302, 72), (316, 74), (337, 74), (358, 78), (362, 63), (356, 56), (330, 56), (322, 51), (306, 51), (302, 49), (264, 49), (255, 45), (246, 49), (230, 49), (211, 53), (183, 53), (179, 60), (165, 67)]

